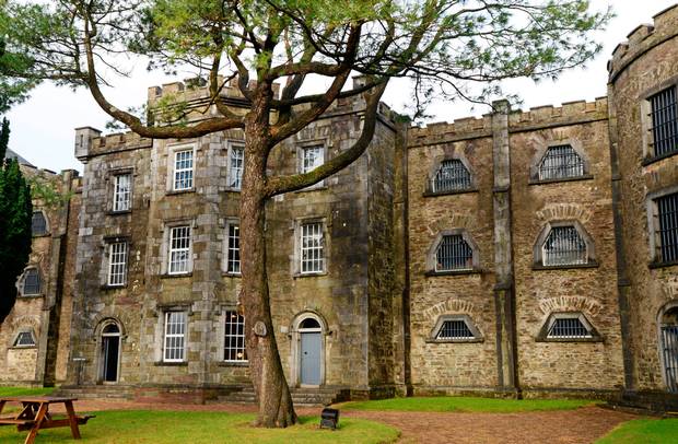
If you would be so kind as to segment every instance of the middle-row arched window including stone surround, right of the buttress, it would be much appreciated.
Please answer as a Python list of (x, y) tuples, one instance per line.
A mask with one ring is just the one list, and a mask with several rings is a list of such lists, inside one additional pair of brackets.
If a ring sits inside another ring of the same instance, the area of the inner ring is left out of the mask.
[(597, 266), (594, 243), (577, 221), (547, 223), (534, 253), (536, 268)]

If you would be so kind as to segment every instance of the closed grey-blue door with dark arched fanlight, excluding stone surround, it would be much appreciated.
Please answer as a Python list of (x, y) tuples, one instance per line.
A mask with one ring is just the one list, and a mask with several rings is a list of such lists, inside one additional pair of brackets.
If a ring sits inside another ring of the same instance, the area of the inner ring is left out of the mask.
[(320, 385), (323, 382), (323, 328), (317, 319), (307, 317), (301, 322), (299, 335), (299, 382), (303, 386)]

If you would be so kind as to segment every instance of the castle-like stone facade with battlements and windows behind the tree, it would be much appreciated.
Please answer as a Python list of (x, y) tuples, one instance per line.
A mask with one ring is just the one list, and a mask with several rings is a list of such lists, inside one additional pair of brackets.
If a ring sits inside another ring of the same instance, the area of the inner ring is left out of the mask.
[[(608, 95), (593, 103), (496, 102), (482, 118), (425, 128), (383, 105), (354, 164), (269, 202), (291, 386), (330, 398), (623, 392), (675, 402), (678, 7), (635, 28), (608, 69)], [(170, 94), (207, 103), (204, 89), (173, 83), (150, 89), (149, 104)], [(247, 106), (235, 86), (224, 97)], [(349, 148), (364, 105), (338, 101), (270, 168), (308, 171)], [(63, 180), (77, 182), (79, 221), (44, 214), (59, 221), (52, 244), (59, 233), (73, 243), (57, 267), (63, 291), (58, 303), (20, 297), (0, 327), (0, 382), (51, 382), (27, 363), (55, 349), (54, 381), (72, 392), (250, 396), (236, 309), (244, 137), (77, 130), (84, 174)], [(60, 328), (40, 320), (55, 309)], [(32, 346), (16, 343), (21, 331)]]

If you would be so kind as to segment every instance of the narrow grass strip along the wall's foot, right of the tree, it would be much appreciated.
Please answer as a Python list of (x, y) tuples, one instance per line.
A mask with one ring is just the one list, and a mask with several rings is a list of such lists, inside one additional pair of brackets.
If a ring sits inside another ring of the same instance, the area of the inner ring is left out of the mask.
[(393, 398), (374, 401), (346, 402), (346, 410), (383, 411), (457, 411), (513, 413), (538, 410), (572, 410), (595, 404), (582, 399), (495, 399), (463, 396)]

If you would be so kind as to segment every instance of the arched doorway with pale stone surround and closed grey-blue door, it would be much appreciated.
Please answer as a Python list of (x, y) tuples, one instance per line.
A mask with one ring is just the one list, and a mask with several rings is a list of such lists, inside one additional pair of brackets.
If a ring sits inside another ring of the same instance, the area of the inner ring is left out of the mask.
[(294, 374), (302, 387), (325, 384), (325, 323), (315, 313), (304, 313), (294, 323)]

